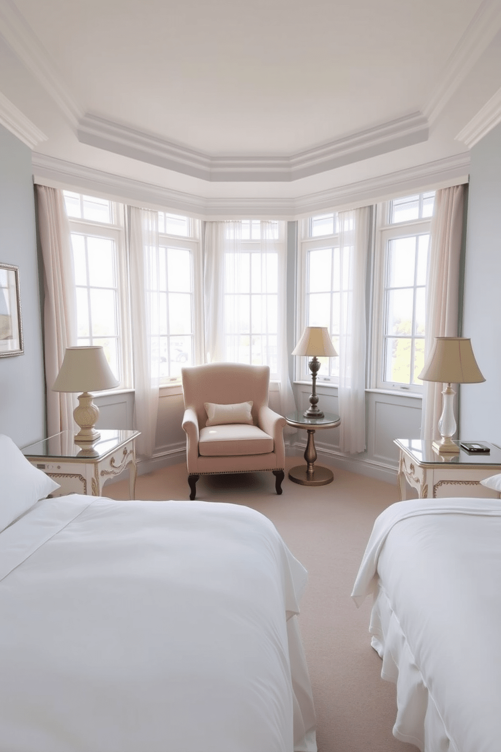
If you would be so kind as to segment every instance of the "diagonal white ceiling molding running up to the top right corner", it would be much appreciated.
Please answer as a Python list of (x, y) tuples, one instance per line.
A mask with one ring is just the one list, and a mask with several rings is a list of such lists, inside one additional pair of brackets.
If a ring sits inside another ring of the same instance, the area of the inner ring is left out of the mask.
[(484, 0), (445, 65), (433, 96), (423, 109), (430, 126), (454, 92), (472, 70), (487, 46), (501, 29), (501, 3)]

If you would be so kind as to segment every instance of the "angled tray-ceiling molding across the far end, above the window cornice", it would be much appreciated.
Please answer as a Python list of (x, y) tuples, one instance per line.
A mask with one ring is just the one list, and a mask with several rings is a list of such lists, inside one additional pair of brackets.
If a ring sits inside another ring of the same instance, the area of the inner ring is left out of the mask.
[(210, 156), (93, 114), (78, 123), (83, 144), (214, 182), (289, 182), (426, 141), (428, 124), (413, 113), (291, 156)]

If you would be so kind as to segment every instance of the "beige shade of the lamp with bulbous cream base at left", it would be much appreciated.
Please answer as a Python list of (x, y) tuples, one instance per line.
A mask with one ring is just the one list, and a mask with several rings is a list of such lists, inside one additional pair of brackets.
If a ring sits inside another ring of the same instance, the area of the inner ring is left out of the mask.
[(67, 347), (53, 392), (98, 392), (118, 384), (102, 347)]

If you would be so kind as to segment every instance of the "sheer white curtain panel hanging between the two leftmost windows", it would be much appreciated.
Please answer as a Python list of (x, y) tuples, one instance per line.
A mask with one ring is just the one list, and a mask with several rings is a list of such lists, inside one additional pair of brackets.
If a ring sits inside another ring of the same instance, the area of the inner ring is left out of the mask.
[(160, 387), (161, 302), (158, 212), (131, 207), (131, 328), (134, 360), (134, 427), (137, 451), (155, 450)]

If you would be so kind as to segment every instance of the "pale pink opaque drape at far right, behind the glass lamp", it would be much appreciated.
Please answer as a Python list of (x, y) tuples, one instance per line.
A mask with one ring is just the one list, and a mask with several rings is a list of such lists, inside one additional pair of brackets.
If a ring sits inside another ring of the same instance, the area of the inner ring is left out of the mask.
[[(438, 190), (435, 195), (427, 274), (425, 360), (435, 337), (457, 337), (463, 202), (462, 185)], [(424, 381), (421, 438), (439, 438), (442, 388), (442, 384)]]

